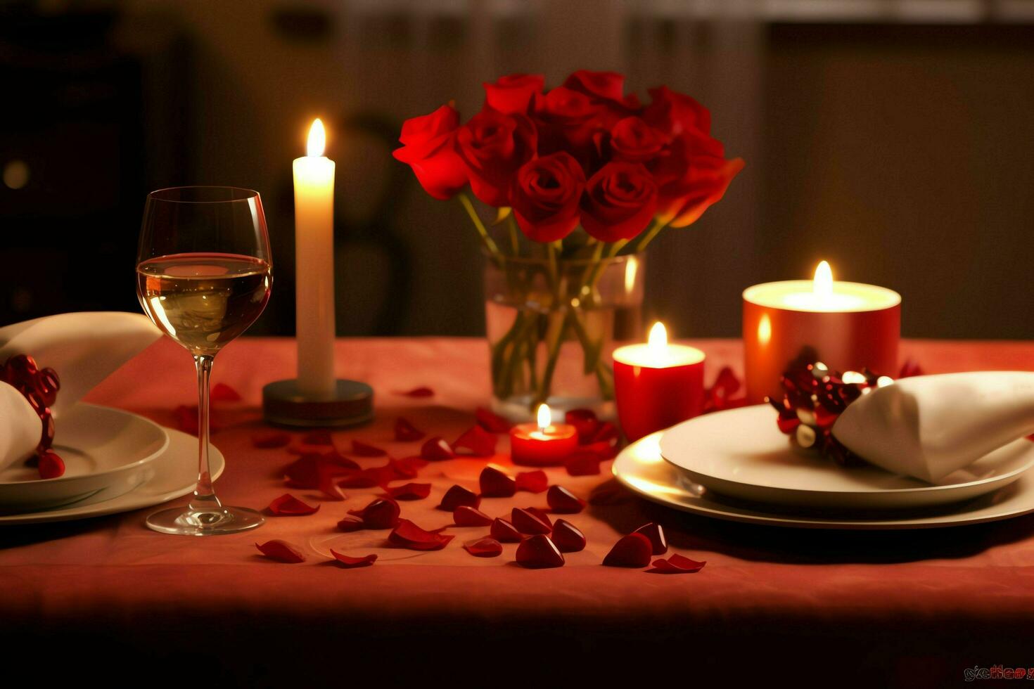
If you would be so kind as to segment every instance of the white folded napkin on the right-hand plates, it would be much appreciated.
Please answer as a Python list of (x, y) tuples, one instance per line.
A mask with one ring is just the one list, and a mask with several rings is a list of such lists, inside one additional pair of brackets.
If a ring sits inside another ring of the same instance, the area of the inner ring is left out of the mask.
[(902, 378), (848, 405), (832, 434), (887, 471), (937, 482), (1034, 433), (1034, 373)]

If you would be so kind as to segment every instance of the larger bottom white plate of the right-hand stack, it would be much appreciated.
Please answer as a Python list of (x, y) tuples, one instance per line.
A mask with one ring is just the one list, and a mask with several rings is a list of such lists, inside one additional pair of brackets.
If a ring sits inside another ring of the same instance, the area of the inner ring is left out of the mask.
[(936, 529), (997, 522), (1034, 512), (1034, 473), (1025, 472), (1002, 490), (973, 500), (919, 509), (843, 510), (744, 504), (685, 478), (661, 457), (664, 431), (626, 447), (611, 471), (647, 500), (720, 520), (797, 529)]

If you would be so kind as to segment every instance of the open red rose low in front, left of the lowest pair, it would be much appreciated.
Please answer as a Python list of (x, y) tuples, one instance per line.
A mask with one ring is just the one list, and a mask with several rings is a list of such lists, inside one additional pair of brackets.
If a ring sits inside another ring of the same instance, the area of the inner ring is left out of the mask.
[(524, 163), (514, 176), (510, 202), (514, 218), (534, 242), (562, 240), (578, 225), (585, 173), (560, 151)]

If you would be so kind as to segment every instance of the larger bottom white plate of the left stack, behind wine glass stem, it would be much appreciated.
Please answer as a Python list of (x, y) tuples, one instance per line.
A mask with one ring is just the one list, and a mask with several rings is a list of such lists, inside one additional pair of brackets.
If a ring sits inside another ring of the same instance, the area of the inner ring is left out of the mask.
[[(77, 504), (62, 509), (0, 515), (0, 526), (66, 522), (89, 516), (127, 512), (169, 502), (192, 492), (197, 482), (197, 438), (180, 431), (163, 429), (169, 445), (154, 461), (154, 475), (138, 488), (117, 498), (91, 504)], [(222, 475), (226, 461), (215, 445), (209, 449), (212, 480)]]

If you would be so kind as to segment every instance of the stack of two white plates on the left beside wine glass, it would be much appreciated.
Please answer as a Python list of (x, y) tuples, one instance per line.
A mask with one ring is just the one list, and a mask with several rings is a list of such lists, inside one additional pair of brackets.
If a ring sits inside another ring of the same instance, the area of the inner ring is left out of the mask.
[[(126, 411), (77, 404), (56, 425), (58, 478), (16, 464), (0, 470), (0, 526), (59, 522), (149, 507), (190, 493), (197, 439)], [(213, 478), (225, 466), (211, 448)]]

